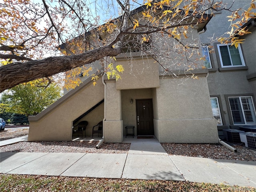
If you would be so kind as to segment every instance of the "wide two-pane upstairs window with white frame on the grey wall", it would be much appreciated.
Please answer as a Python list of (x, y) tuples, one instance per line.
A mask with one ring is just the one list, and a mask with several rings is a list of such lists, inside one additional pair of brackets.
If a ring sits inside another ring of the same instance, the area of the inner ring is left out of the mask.
[(238, 48), (230, 45), (231, 44), (217, 45), (221, 66), (224, 68), (245, 66), (240, 45), (238, 45)]

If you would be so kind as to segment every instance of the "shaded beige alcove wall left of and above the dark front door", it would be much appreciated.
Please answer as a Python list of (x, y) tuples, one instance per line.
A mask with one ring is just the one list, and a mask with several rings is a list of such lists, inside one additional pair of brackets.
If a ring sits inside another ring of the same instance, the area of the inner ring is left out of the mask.
[[(122, 90), (122, 120), (123, 132), (125, 135), (126, 126), (134, 126), (135, 135), (137, 135), (136, 121), (136, 99), (151, 99), (152, 89), (132, 89)], [(131, 104), (130, 100), (133, 100)]]

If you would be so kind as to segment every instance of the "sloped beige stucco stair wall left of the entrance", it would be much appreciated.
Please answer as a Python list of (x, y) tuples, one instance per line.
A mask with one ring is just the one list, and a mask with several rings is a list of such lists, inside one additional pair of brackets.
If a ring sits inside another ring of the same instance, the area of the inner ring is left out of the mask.
[[(99, 80), (100, 82), (100, 80)], [(104, 98), (104, 86), (81, 84), (36, 116), (30, 116), (28, 141), (68, 141), (73, 121)]]

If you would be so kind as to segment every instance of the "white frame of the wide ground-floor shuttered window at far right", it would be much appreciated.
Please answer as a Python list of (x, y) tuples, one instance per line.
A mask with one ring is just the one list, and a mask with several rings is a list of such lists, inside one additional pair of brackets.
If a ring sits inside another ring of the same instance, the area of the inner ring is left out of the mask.
[[(229, 99), (228, 98), (239, 98), (239, 104), (241, 105), (241, 97), (250, 97), (251, 100), (252, 100), (252, 106), (253, 106), (253, 110), (254, 110), (254, 113), (256, 114), (256, 110), (255, 110), (255, 106), (254, 106), (254, 97), (252, 96), (252, 94), (239, 94), (239, 95), (225, 95), (226, 97), (226, 100), (227, 100), (227, 104), (228, 104), (228, 112), (230, 114), (230, 122), (233, 123), (233, 125), (235, 126), (240, 126), (240, 125), (250, 125), (246, 122), (246, 118), (244, 116), (244, 108), (241, 106), (241, 109), (242, 109), (242, 117), (243, 117), (243, 120), (244, 120), (244, 124), (234, 124), (234, 120), (233, 120), (233, 116), (232, 116), (232, 111), (231, 111), (231, 107), (230, 107), (230, 102), (229, 102)], [(254, 123), (253, 123), (254, 124)]]

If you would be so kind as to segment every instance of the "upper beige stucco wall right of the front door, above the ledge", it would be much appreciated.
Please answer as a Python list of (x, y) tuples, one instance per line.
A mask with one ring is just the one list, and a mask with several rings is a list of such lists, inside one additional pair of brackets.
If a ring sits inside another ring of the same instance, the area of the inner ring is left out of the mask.
[(212, 118), (206, 77), (189, 78), (180, 85), (173, 78), (160, 79), (156, 94), (158, 119)]

